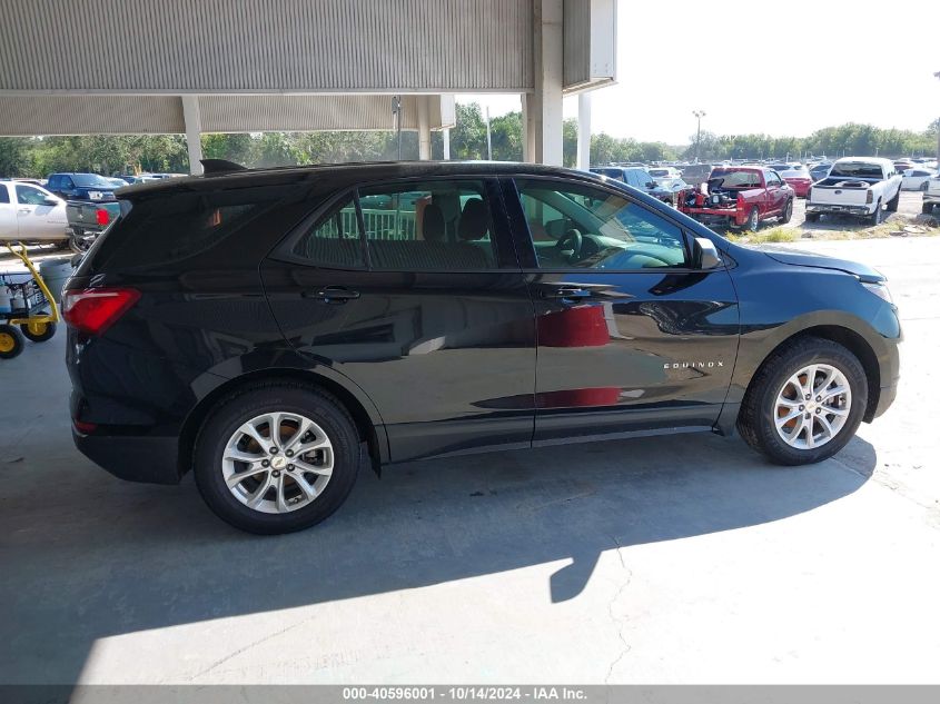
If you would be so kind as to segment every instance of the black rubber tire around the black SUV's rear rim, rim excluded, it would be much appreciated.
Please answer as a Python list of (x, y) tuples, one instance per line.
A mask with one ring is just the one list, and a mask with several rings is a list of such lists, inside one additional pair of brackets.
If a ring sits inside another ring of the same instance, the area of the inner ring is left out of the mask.
[[(303, 414), (324, 429), (333, 445), (334, 469), (329, 482), (309, 505), (288, 513), (249, 508), (231, 494), (221, 473), (222, 453), (238, 427), (274, 412)], [(358, 474), (359, 437), (348, 412), (332, 395), (285, 381), (258, 383), (238, 389), (216, 405), (199, 430), (192, 465), (196, 486), (219, 518), (259, 535), (293, 533), (329, 517), (346, 500)]]

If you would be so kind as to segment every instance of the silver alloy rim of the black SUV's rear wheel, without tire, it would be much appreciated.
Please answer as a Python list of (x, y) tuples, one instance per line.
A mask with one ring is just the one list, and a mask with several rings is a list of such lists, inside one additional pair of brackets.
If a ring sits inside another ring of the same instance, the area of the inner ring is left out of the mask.
[(333, 444), (324, 429), (297, 413), (269, 413), (232, 433), (221, 473), (248, 508), (285, 514), (315, 502), (333, 475)]

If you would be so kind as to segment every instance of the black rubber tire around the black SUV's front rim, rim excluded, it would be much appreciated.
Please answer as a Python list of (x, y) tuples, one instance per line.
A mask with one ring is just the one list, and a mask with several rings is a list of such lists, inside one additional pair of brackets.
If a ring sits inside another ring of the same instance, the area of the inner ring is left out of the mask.
[[(852, 404), (845, 424), (820, 447), (798, 449), (776, 432), (776, 398), (785, 381), (811, 364), (828, 364), (848, 379)], [(819, 337), (796, 338), (775, 350), (751, 379), (738, 416), (738, 429), (752, 448), (778, 465), (822, 462), (842, 449), (855, 434), (868, 404), (868, 380), (859, 359), (842, 345)]]

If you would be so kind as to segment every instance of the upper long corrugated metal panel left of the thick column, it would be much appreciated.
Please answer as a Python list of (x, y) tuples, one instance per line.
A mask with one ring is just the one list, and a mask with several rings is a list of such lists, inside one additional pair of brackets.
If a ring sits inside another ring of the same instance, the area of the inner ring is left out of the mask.
[(520, 92), (531, 23), (532, 0), (31, 0), (0, 91)]

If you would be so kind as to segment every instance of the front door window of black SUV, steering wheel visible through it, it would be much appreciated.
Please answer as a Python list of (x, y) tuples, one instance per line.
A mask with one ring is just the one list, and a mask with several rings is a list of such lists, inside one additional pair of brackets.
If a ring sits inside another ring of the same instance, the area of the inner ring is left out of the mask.
[(687, 266), (679, 226), (622, 196), (534, 179), (516, 187), (541, 268)]

